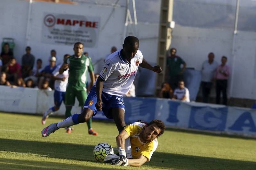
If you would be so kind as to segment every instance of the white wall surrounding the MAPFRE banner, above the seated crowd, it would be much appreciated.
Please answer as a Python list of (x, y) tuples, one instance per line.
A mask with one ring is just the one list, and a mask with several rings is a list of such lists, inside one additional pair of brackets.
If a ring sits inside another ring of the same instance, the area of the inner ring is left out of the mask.
[(27, 44), (31, 46), (31, 53), (35, 55), (36, 59), (41, 58), (43, 60), (44, 66), (48, 65), (47, 60), (52, 49), (57, 51), (57, 56), (60, 58), (66, 53), (73, 53), (73, 46), (41, 43), (44, 12), (100, 17), (98, 46), (95, 48), (84, 48), (84, 51), (89, 52), (92, 61), (96, 61), (110, 53), (112, 46), (116, 46), (117, 48), (122, 47), (125, 21), (124, 7), (116, 7), (103, 28), (113, 7), (92, 4), (69, 5), (33, 1), (29, 25), (30, 34), (28, 41), (26, 41), (28, 7), (29, 1), (0, 1), (0, 11), (1, 15), (3, 14), (0, 18), (0, 22), (2, 23), (0, 25), (0, 40), (4, 37), (15, 39), (16, 46), (14, 54), (18, 62), (21, 61), (21, 56), (25, 53)]

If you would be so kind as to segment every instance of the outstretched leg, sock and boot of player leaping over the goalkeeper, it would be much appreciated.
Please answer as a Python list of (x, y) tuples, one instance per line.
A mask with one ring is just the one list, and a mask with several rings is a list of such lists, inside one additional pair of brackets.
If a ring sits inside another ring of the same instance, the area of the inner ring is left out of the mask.
[(81, 114), (74, 114), (61, 122), (53, 123), (45, 127), (41, 132), (42, 136), (47, 137), (60, 128), (66, 128), (75, 124), (84, 123), (88, 121), (92, 115), (93, 111), (91, 109), (85, 108)]

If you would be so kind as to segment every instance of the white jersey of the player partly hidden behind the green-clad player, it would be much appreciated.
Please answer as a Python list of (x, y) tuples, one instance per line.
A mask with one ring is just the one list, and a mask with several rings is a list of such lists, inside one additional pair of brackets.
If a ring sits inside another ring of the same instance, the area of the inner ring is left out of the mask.
[(63, 78), (65, 77), (65, 81), (61, 80), (55, 80), (54, 82), (54, 89), (57, 91), (65, 92), (67, 89), (67, 84), (68, 84), (68, 69), (63, 72), (63, 74), (59, 74), (59, 69), (61, 65), (58, 65), (55, 70), (52, 72), (52, 74), (58, 78)]

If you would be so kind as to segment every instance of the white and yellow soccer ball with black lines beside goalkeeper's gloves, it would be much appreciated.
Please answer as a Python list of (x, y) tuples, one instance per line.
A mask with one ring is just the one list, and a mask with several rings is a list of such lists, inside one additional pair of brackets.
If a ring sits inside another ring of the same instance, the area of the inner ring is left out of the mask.
[(93, 155), (99, 162), (104, 162), (104, 158), (107, 155), (114, 154), (114, 150), (108, 143), (99, 143), (93, 149)]

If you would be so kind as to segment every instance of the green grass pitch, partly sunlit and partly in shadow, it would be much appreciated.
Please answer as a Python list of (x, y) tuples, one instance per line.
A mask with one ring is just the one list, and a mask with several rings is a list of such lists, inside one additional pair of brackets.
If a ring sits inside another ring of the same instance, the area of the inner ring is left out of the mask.
[[(113, 123), (94, 121), (98, 136), (86, 124), (71, 134), (60, 129), (47, 138), (40, 116), (0, 113), (0, 169), (134, 169), (98, 163), (93, 148), (100, 142), (115, 146)], [(46, 124), (61, 118), (50, 117)], [(166, 130), (150, 162), (140, 169), (256, 169), (256, 140), (193, 131)]]

